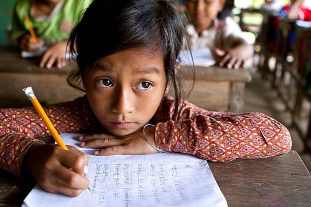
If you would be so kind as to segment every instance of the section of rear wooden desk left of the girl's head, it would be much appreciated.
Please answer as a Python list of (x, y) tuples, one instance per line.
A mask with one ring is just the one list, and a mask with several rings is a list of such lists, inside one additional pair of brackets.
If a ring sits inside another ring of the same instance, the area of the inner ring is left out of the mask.
[(33, 87), (40, 101), (68, 101), (84, 94), (66, 82), (73, 66), (47, 69), (37, 61), (21, 58), (17, 47), (0, 46), (0, 99), (27, 100), (22, 91), (27, 86)]

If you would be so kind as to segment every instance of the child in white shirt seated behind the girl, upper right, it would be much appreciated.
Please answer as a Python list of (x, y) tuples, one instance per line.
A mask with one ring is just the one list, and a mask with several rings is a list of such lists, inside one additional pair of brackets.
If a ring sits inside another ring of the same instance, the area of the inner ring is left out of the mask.
[(192, 50), (207, 47), (220, 66), (239, 68), (253, 56), (254, 49), (242, 38), (242, 31), (232, 18), (216, 18), (225, 3), (225, 0), (185, 0), (193, 23), (187, 31)]

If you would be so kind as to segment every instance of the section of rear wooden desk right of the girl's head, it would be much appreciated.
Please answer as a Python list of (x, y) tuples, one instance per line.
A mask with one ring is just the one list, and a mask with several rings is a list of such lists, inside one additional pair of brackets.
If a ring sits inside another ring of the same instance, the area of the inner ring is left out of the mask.
[[(244, 103), (245, 84), (252, 80), (247, 70), (229, 70), (216, 65), (195, 69), (195, 87), (186, 99), (207, 110), (239, 112)], [(189, 92), (193, 77), (189, 75), (188, 67), (181, 66), (180, 70)]]

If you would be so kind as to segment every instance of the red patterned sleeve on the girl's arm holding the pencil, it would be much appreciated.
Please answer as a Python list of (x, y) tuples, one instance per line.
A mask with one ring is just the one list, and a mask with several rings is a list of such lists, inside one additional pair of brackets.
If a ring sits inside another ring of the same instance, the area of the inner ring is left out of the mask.
[[(44, 107), (59, 133), (85, 132), (95, 124), (86, 97)], [(34, 107), (0, 109), (0, 167), (20, 175), (20, 167), (27, 149), (35, 137), (50, 133)]]

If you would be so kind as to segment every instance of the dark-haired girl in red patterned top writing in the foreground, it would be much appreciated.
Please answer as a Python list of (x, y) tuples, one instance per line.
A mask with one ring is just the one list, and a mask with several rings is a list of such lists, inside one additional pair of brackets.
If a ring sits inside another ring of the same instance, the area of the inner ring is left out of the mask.
[[(70, 37), (79, 67), (69, 82), (82, 82), (86, 96), (45, 107), (58, 132), (91, 134), (80, 141), (100, 148), (95, 155), (164, 150), (229, 162), (288, 152), (288, 130), (264, 114), (211, 112), (181, 100), (176, 60), (184, 37), (170, 1), (95, 0)], [(170, 86), (175, 99), (165, 96)], [(52, 193), (78, 196), (88, 187), (87, 156), (35, 139), (50, 133), (33, 107), (0, 112), (2, 168)]]

